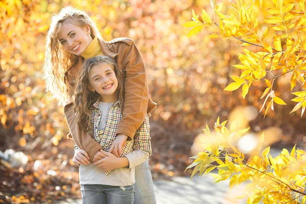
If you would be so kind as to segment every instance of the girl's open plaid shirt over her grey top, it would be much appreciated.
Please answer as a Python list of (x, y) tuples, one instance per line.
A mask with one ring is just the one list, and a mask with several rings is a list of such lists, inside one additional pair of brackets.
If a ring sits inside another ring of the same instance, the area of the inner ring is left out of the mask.
[[(101, 111), (99, 109), (99, 99), (91, 107), (91, 123), (93, 125), (93, 133), (95, 140), (102, 146), (103, 150), (108, 151), (116, 138), (118, 123), (122, 118), (120, 111), (120, 102), (117, 101), (108, 112), (108, 119), (104, 130), (98, 130), (101, 120)], [(145, 116), (144, 121), (137, 129), (133, 140), (127, 140), (122, 146), (122, 157), (129, 154), (133, 150), (143, 150), (151, 155), (151, 138), (149, 130), (149, 117)], [(75, 145), (76, 146), (76, 145)], [(78, 147), (75, 147), (78, 148)], [(108, 175), (111, 171), (105, 171)]]

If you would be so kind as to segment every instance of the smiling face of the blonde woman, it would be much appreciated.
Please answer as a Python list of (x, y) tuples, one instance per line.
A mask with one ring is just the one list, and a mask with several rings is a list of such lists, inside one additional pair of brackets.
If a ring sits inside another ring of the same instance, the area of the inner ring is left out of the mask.
[(68, 53), (82, 55), (92, 41), (90, 27), (80, 28), (73, 20), (67, 19), (62, 23), (58, 39)]

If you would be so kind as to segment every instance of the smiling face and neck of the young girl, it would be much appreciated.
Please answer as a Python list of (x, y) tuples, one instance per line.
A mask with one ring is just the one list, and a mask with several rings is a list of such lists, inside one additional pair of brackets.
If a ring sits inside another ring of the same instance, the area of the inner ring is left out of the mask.
[(92, 67), (89, 73), (90, 91), (100, 94), (102, 102), (115, 103), (115, 92), (118, 87), (118, 80), (115, 71), (108, 64), (98, 64)]

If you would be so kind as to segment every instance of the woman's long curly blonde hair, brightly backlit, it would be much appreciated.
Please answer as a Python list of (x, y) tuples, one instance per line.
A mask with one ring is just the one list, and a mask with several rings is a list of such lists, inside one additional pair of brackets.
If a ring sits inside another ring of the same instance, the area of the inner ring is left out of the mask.
[(84, 11), (65, 7), (59, 14), (54, 14), (51, 17), (50, 28), (46, 37), (43, 79), (46, 81), (46, 91), (51, 94), (52, 98), (57, 99), (60, 105), (64, 105), (71, 97), (64, 82), (64, 73), (79, 61), (79, 56), (68, 53), (58, 39), (58, 32), (62, 23), (67, 19), (71, 19), (80, 28), (89, 25), (92, 39), (94, 37), (102, 39), (95, 23)]

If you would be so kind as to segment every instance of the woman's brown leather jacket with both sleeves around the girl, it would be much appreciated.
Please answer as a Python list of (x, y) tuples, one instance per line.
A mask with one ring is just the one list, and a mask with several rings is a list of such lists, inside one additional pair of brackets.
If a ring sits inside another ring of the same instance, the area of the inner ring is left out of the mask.
[[(116, 38), (109, 42), (99, 39), (99, 42), (103, 54), (112, 57), (124, 74), (124, 109), (116, 134), (124, 134), (133, 138), (136, 130), (143, 122), (145, 114), (156, 108), (156, 103), (148, 96), (146, 73), (141, 55), (134, 41), (130, 38)], [(82, 63), (83, 58), (80, 56), (79, 62), (67, 69), (64, 74), (65, 84), (71, 88), (70, 90), (73, 90), (75, 86)], [(70, 134), (75, 144), (85, 150), (90, 157), (90, 161), (92, 161), (93, 156), (101, 149), (101, 146), (78, 126), (77, 118), (71, 107), (71, 102), (64, 106), (64, 114)]]

